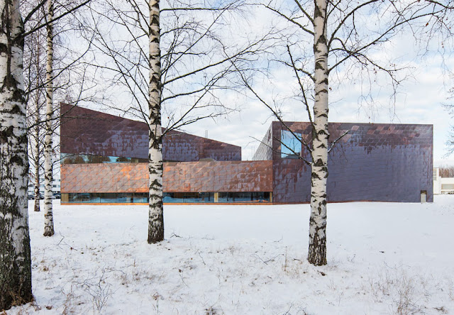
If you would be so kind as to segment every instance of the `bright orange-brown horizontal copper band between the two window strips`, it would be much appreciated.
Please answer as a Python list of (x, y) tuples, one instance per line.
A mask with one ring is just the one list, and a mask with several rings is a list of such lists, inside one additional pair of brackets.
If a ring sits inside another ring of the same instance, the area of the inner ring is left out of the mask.
[[(61, 192), (148, 192), (147, 163), (69, 164)], [(272, 161), (165, 162), (164, 192), (271, 192)]]

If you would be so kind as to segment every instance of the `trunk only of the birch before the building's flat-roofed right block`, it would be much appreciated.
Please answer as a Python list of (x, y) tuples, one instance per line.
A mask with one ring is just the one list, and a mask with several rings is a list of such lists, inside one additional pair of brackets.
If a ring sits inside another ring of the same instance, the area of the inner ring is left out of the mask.
[(326, 179), (328, 178), (328, 43), (327, 0), (314, 0), (315, 102), (312, 130), (311, 218), (309, 254), (313, 265), (326, 265)]

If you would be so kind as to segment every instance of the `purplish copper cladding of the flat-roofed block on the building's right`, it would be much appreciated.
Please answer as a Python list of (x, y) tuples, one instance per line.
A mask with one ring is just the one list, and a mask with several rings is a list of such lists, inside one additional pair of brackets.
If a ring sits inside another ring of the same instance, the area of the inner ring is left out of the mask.
[[(286, 123), (311, 141), (309, 123)], [(282, 125), (272, 123), (273, 201), (309, 202), (311, 170), (280, 155)], [(433, 201), (433, 126), (389, 123), (329, 123), (328, 201)], [(309, 159), (306, 150), (301, 153)]]

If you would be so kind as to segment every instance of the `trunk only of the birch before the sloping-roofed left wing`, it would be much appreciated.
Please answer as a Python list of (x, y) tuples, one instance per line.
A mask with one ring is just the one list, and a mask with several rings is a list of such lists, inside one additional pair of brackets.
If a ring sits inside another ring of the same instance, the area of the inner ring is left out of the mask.
[(148, 172), (150, 175), (148, 243), (164, 240), (164, 213), (162, 209), (162, 129), (161, 129), (161, 51), (159, 0), (150, 0), (150, 84), (148, 145)]

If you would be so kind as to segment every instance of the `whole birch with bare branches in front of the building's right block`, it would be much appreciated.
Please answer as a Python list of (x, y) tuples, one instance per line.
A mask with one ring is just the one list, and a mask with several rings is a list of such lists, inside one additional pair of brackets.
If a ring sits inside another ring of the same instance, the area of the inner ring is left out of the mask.
[[(383, 80), (394, 94), (402, 81), (402, 67), (382, 57), (384, 44), (409, 29), (422, 49), (427, 40), (452, 35), (448, 16), (453, 2), (293, 0), (260, 5), (279, 18), (283, 40), (277, 47), (282, 50), (272, 59), (294, 77), (297, 92), (292, 98), (301, 101), (312, 126), (311, 139), (301, 139), (311, 166), (308, 260), (325, 265), (328, 152), (339, 140), (330, 139), (328, 133), (328, 94), (333, 89), (329, 82), (359, 80), (366, 91), (361, 97), (372, 99), (367, 91)], [(284, 123), (279, 108), (260, 96), (245, 75), (243, 82)]]

